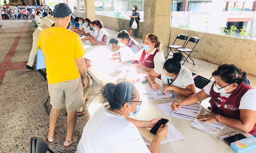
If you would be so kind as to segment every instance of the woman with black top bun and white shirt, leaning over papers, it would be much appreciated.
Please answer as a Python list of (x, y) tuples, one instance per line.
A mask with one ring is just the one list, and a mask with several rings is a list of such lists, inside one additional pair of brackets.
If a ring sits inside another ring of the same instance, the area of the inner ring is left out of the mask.
[(156, 83), (156, 78), (161, 76), (164, 91), (175, 91), (182, 96), (196, 94), (196, 86), (190, 70), (181, 65), (182, 53), (176, 52), (173, 57), (157, 65), (147, 75), (148, 82), (152, 88), (157, 90), (160, 85)]

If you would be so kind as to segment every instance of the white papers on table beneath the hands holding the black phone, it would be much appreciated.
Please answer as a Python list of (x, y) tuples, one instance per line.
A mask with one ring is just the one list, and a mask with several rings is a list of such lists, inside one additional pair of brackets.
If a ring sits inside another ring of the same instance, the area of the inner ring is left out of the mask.
[[(167, 136), (161, 141), (161, 144), (168, 143), (180, 139), (184, 139), (185, 137), (170, 123), (167, 123), (169, 125), (168, 127), (168, 134)], [(151, 134), (151, 133), (150, 133)], [(150, 145), (150, 143), (154, 139), (154, 134), (151, 134), (151, 137), (149, 137), (150, 140), (146, 139), (144, 136), (142, 136), (144, 142), (146, 145)]]

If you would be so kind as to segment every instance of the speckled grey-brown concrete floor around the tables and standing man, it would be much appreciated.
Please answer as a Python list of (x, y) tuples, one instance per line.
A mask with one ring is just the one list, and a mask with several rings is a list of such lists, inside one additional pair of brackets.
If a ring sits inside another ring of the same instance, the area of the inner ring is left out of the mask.
[[(11, 56), (9, 62), (23, 62), (28, 60), (29, 52), (32, 48), (32, 33), (35, 30), (30, 20), (1, 20), (5, 33), (0, 34), (0, 62), (6, 57)], [(23, 28), (21, 28), (23, 27)], [(110, 38), (116, 37), (117, 32), (106, 29)], [(13, 54), (9, 54), (15, 46), (18, 33), (21, 37), (17, 48)], [(137, 39), (141, 44), (142, 40)], [(8, 53), (9, 51), (9, 53)], [(8, 54), (7, 54), (8, 53)], [(7, 60), (8, 61), (8, 60)], [(200, 74), (205, 78), (211, 77), (211, 72), (217, 68), (217, 65), (195, 59), (196, 66), (185, 63), (192, 72)], [(227, 61), (228, 63), (228, 61)], [(1, 65), (1, 63), (0, 63)], [(0, 67), (1, 69), (1, 67)], [(6, 69), (5, 69), (6, 70)], [(48, 96), (47, 82), (35, 70), (8, 70), (0, 71), (0, 75), (5, 73), (3, 82), (0, 86), (0, 127), (1, 127), (1, 153), (25, 153), (29, 152), (30, 138), (46, 138), (48, 132), (48, 116), (43, 103)], [(253, 87), (256, 87), (256, 77), (248, 76)], [(84, 106), (86, 115), (77, 118), (75, 132), (81, 136), (83, 127), (95, 112), (95, 110), (104, 102), (99, 95), (101, 86), (96, 82), (91, 86), (88, 95), (88, 102)], [(207, 105), (206, 103), (204, 105)], [(57, 127), (56, 138), (49, 147), (59, 153), (73, 153), (76, 145), (69, 148), (62, 146), (66, 133), (65, 110), (61, 111)]]

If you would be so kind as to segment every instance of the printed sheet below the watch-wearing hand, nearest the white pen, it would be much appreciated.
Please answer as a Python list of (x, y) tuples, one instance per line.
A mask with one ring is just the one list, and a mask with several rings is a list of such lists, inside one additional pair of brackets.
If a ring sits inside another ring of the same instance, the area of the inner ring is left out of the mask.
[[(207, 112), (204, 112), (203, 115), (209, 114)], [(219, 131), (221, 131), (223, 128), (226, 127), (226, 125), (219, 123), (219, 122), (206, 122), (202, 123), (202, 121), (195, 120), (190, 124), (190, 126), (193, 126), (194, 128), (197, 128), (205, 133), (209, 134), (216, 134)]]

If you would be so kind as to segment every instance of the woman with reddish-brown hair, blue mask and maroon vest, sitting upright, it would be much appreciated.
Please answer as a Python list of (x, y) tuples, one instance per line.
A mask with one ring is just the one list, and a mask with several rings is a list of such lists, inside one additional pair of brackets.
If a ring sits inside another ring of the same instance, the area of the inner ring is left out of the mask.
[(150, 72), (154, 67), (165, 61), (165, 57), (163, 57), (163, 53), (157, 49), (161, 43), (156, 35), (152, 33), (147, 34), (144, 41), (144, 48), (136, 54), (140, 60), (136, 61), (138, 63), (134, 63), (133, 66), (137, 69)]

